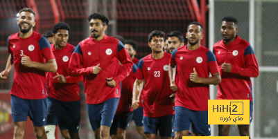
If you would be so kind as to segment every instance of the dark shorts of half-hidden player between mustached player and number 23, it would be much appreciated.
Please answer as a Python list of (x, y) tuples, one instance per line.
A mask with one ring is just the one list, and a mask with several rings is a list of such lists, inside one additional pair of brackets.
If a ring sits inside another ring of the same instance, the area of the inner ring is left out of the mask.
[(132, 115), (133, 115), (132, 111), (127, 111), (119, 115), (115, 115), (112, 126), (110, 128), (110, 135), (116, 135), (116, 130), (118, 128), (125, 129), (125, 130), (128, 129), (128, 125), (130, 124)]

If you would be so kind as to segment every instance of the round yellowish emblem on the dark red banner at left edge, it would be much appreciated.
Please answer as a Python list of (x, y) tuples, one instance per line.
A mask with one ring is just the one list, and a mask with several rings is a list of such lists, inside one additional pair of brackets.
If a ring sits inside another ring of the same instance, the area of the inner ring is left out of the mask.
[(0, 134), (12, 129), (12, 107), (10, 103), (0, 100)]

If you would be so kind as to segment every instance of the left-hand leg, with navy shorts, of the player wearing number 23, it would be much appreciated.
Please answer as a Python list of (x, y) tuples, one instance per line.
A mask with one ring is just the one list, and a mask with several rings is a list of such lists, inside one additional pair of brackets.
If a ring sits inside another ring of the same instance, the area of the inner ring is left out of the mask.
[(144, 116), (143, 121), (144, 121), (144, 133), (146, 134), (146, 137), (148, 139), (156, 139), (159, 118), (149, 118)]

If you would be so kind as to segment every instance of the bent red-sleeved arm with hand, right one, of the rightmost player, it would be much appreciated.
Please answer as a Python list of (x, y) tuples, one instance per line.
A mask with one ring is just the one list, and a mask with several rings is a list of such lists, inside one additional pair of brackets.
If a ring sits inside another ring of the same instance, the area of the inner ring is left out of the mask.
[(237, 73), (245, 77), (258, 77), (259, 76), (259, 66), (257, 63), (256, 56), (254, 55), (254, 50), (251, 45), (245, 48), (244, 52), (245, 68), (234, 66), (232, 64), (224, 63), (222, 68), (224, 72)]

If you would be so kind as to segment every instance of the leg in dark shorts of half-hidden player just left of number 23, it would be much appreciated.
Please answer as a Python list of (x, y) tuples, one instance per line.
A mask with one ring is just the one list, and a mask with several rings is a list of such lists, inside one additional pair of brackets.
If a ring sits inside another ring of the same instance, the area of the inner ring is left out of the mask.
[(125, 139), (126, 129), (128, 129), (128, 125), (132, 119), (133, 112), (123, 112), (119, 115), (116, 137), (119, 139)]

